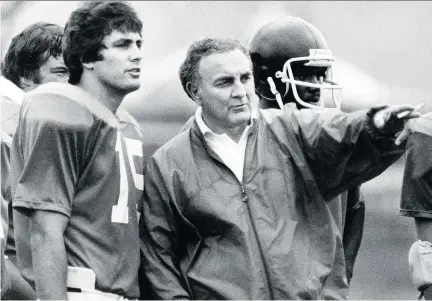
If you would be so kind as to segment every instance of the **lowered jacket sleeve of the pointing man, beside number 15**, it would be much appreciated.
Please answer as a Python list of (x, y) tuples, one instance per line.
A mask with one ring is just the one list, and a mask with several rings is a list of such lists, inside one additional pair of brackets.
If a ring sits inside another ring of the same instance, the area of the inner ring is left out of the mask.
[(190, 299), (179, 262), (179, 222), (173, 191), (152, 157), (145, 172), (143, 213), (140, 219), (142, 268), (152, 298)]

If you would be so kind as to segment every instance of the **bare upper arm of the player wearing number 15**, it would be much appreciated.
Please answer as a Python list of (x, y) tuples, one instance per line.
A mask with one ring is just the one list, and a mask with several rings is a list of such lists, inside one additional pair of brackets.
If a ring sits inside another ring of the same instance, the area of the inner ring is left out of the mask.
[(67, 259), (63, 233), (69, 218), (58, 212), (35, 210), (30, 219), (37, 298), (66, 300)]

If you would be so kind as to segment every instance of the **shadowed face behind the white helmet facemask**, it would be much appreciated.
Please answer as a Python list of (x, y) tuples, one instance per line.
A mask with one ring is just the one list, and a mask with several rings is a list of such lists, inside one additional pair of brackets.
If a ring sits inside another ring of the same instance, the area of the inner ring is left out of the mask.
[[(303, 67), (298, 70), (293, 70), (294, 79), (311, 84), (319, 84), (322, 82), (327, 69), (322, 67)], [(301, 85), (296, 85), (297, 93), (301, 100), (307, 103), (318, 105), (321, 97), (321, 89), (311, 88)]]

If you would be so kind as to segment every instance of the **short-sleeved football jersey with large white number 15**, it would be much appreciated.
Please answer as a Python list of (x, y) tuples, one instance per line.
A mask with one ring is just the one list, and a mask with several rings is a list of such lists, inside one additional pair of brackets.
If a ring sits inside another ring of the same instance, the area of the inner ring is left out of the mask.
[(62, 83), (27, 94), (12, 141), (13, 208), (69, 217), (68, 265), (92, 269), (96, 289), (127, 298), (139, 298), (142, 156), (142, 132), (127, 112), (114, 115)]

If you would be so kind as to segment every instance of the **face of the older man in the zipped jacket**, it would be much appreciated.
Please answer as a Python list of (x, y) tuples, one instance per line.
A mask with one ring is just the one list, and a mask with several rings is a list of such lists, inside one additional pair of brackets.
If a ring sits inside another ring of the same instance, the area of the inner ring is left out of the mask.
[(203, 57), (199, 77), (196, 101), (211, 130), (224, 133), (249, 123), (255, 87), (251, 62), (240, 50)]

